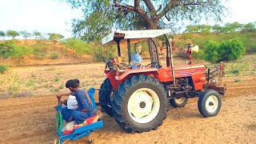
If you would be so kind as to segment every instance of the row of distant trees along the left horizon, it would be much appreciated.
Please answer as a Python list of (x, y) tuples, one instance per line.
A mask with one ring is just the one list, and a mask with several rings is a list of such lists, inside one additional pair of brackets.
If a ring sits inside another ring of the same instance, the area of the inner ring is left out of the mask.
[(33, 39), (38, 39), (38, 40), (50, 40), (50, 41), (58, 41), (64, 36), (62, 34), (56, 34), (56, 33), (47, 33), (47, 34), (42, 34), (41, 32), (34, 30), (32, 33), (23, 30), (23, 31), (15, 31), (15, 30), (7, 30), (7, 31), (2, 31), (0, 30), (0, 39), (5, 39), (5, 38), (16, 38), (18, 36), (22, 36), (23, 38), (33, 38)]

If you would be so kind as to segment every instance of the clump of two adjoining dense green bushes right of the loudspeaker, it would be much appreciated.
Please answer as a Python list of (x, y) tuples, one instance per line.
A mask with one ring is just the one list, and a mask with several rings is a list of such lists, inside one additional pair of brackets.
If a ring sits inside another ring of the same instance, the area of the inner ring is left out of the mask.
[(238, 39), (223, 41), (221, 44), (214, 41), (206, 42), (204, 58), (209, 62), (234, 61), (242, 58), (245, 47)]

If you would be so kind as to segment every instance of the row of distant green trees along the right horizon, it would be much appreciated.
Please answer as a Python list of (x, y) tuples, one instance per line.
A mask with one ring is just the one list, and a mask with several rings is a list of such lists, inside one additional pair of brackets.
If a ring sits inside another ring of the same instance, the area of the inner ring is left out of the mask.
[(254, 31), (256, 30), (256, 22), (249, 22), (246, 24), (241, 24), (239, 22), (226, 23), (224, 26), (218, 24), (214, 26), (210, 25), (195, 25), (195, 26), (186, 26), (187, 33), (198, 33), (198, 32), (215, 32), (215, 33), (229, 33), (234, 31)]

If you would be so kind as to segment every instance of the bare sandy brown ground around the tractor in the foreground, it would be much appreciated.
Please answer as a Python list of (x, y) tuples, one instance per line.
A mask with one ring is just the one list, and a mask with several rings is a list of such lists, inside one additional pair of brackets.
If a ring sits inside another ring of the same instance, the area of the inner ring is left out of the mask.
[[(256, 143), (256, 77), (226, 78), (228, 92), (217, 117), (203, 118), (197, 99), (170, 107), (158, 130), (127, 134), (106, 114), (104, 127), (91, 134), (95, 143)], [(53, 143), (54, 95), (0, 100), (0, 143)], [(87, 138), (75, 142), (85, 143)]]

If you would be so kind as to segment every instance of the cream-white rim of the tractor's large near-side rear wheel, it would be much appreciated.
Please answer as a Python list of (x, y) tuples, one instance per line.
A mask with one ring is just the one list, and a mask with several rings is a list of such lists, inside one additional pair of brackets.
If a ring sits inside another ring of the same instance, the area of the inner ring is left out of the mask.
[(135, 122), (150, 122), (160, 110), (158, 94), (148, 88), (138, 89), (130, 96), (127, 108), (130, 118)]

